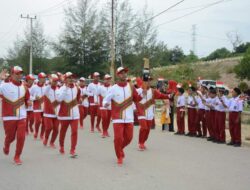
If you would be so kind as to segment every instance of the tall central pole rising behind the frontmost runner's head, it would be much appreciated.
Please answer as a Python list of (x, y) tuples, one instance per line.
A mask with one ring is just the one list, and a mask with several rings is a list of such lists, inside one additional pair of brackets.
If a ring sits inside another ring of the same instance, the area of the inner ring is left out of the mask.
[(111, 65), (110, 65), (110, 75), (113, 80), (115, 79), (115, 19), (114, 19), (114, 7), (115, 0), (111, 0)]

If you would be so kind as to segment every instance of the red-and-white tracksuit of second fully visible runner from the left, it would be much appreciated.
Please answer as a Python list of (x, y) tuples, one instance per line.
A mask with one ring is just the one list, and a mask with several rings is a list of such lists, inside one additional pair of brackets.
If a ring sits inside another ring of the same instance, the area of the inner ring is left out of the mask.
[[(43, 139), (45, 126), (43, 122), (43, 95), (44, 95), (45, 85), (40, 84), (39, 82), (32, 86), (30, 90), (31, 100), (33, 101), (33, 112), (34, 112), (34, 119), (35, 119), (35, 134), (34, 138), (37, 138), (40, 125), (42, 125), (40, 138)], [(38, 99), (37, 99), (38, 98)]]

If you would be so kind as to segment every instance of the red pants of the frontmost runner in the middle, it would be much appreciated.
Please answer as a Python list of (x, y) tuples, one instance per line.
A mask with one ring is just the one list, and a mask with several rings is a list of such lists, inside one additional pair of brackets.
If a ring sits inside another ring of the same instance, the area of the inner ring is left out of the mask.
[(114, 123), (114, 146), (117, 158), (122, 157), (123, 149), (132, 141), (133, 123)]

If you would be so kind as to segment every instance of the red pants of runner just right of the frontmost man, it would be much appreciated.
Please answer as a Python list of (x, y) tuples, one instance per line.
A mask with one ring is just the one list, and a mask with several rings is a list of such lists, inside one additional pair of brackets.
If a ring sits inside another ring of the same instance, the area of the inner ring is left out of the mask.
[(139, 144), (144, 144), (148, 139), (151, 126), (153, 125), (152, 120), (139, 119), (140, 131), (139, 131)]

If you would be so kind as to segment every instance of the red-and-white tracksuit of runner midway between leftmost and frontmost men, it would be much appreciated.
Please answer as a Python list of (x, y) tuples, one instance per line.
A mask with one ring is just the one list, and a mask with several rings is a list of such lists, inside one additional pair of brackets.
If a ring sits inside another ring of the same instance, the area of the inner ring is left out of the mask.
[[(67, 73), (66, 73), (67, 74)], [(78, 102), (80, 101), (80, 90), (72, 84), (69, 87), (64, 85), (56, 93), (56, 100), (60, 102), (58, 119), (61, 123), (59, 144), (60, 152), (64, 153), (64, 139), (69, 125), (71, 126), (71, 149), (70, 153), (74, 155), (77, 144), (77, 128), (80, 119)]]

